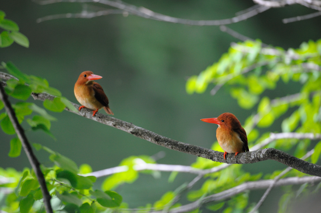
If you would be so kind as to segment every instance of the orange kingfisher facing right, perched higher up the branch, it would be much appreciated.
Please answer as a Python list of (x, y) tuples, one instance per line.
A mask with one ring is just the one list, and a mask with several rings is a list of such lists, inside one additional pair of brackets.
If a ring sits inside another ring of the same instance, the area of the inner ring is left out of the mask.
[(94, 82), (94, 80), (100, 78), (102, 77), (94, 75), (91, 71), (82, 72), (74, 87), (76, 99), (82, 105), (79, 110), (83, 107), (92, 109), (94, 110), (92, 116), (102, 107), (104, 107), (107, 114), (114, 114), (108, 106), (109, 101), (104, 90), (99, 83)]

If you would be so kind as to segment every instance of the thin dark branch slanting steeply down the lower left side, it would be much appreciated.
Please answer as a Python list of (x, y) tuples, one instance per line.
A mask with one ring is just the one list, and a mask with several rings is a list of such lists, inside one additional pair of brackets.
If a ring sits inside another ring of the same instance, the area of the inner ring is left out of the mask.
[(44, 201), (44, 204), (46, 207), (46, 211), (47, 211), (47, 213), (51, 213), (51, 212), (53, 212), (51, 204), (50, 204), (51, 196), (50, 196), (48, 189), (47, 189), (46, 180), (45, 180), (45, 178), (42, 174), (42, 171), (40, 169), (40, 163), (32, 151), (30, 143), (29, 143), (26, 135), (24, 134), (24, 130), (22, 129), (21, 125), (18, 122), (16, 114), (10, 104), (8, 96), (6, 95), (1, 83), (0, 83), (0, 99), (4, 103), (4, 107), (7, 111), (10, 121), (12, 122), (14, 130), (16, 131), (17, 136), (21, 141), (22, 147), (28, 157), (28, 160), (32, 166), (32, 169), (34, 170), (34, 172), (37, 176), (37, 179), (38, 179), (39, 185), (40, 185), (40, 189), (41, 189), (41, 192), (43, 195), (43, 201)]

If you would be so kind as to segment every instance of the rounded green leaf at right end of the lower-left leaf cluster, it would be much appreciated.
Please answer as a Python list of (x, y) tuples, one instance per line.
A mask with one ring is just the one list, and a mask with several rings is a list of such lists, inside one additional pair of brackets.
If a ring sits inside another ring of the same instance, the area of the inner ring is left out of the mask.
[(96, 189), (94, 192), (89, 191), (93, 196), (97, 198), (97, 201), (100, 205), (108, 208), (120, 206), (123, 198), (116, 192), (112, 191), (101, 191)]

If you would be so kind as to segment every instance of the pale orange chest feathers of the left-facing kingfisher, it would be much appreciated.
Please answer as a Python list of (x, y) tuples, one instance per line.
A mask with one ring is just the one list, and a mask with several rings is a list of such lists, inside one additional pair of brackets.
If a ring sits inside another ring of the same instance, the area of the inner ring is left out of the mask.
[(223, 129), (222, 127), (217, 128), (216, 138), (219, 145), (222, 147), (224, 152), (236, 153), (242, 152), (243, 141), (239, 137), (239, 134), (235, 131)]

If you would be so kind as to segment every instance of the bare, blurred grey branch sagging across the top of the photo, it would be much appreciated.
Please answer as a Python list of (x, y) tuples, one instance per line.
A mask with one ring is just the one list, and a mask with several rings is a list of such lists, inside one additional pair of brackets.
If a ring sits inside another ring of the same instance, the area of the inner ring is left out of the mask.
[[(196, 25), (196, 26), (218, 26), (218, 25), (226, 25), (226, 24), (232, 24), (239, 21), (247, 20), (261, 12), (264, 12), (270, 7), (260, 6), (260, 7), (253, 7), (251, 10), (248, 10), (245, 13), (242, 13), (238, 16), (235, 16), (230, 19), (221, 19), (221, 20), (189, 20), (189, 19), (180, 19), (175, 18), (167, 15), (163, 15), (157, 12), (153, 12), (147, 8), (144, 7), (136, 7), (131, 4), (124, 3), (120, 0), (118, 1), (110, 1), (110, 0), (43, 0), (43, 1), (36, 1), (39, 4), (54, 4), (58, 2), (74, 2), (74, 3), (100, 3), (108, 6), (112, 6), (115, 8), (118, 8), (120, 10), (123, 10), (124, 12), (127, 12), (130, 15), (136, 15), (140, 16), (146, 19), (152, 19), (152, 20), (158, 20), (158, 21), (165, 21), (165, 22), (171, 22), (171, 23), (177, 23), (177, 24), (186, 24), (186, 25)], [(79, 15), (77, 13), (76, 15), (72, 15), (71, 13), (68, 13), (68, 17), (65, 18), (92, 18), (92, 15), (95, 15), (94, 13), (88, 13), (90, 15)], [(110, 14), (110, 13), (108, 13)], [(108, 15), (106, 14), (106, 15)], [(63, 16), (66, 16), (66, 14), (61, 15), (52, 15), (52, 16), (46, 16), (43, 18), (38, 19), (38, 21), (44, 21), (44, 20), (51, 20), (56, 18), (63, 18)]]

